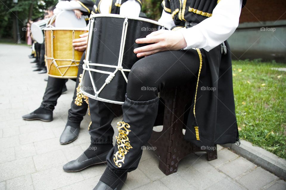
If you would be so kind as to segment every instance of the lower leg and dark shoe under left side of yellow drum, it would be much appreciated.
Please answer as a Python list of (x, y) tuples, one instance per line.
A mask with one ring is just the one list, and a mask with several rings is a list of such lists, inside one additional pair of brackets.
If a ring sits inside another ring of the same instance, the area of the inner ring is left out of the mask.
[(52, 121), (53, 110), (57, 105), (57, 99), (60, 97), (65, 83), (66, 79), (48, 77), (41, 106), (32, 113), (22, 116), (22, 118), (25, 120)]

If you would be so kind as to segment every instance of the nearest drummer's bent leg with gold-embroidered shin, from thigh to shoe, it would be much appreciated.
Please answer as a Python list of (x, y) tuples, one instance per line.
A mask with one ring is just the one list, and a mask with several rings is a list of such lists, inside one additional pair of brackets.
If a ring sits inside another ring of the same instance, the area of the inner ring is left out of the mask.
[(158, 111), (158, 92), (195, 82), (198, 69), (199, 56), (193, 49), (156, 53), (133, 65), (122, 105), (123, 121), (117, 126), (117, 143), (107, 155), (107, 168), (95, 189), (121, 188), (127, 172), (138, 167), (142, 146), (150, 139)]

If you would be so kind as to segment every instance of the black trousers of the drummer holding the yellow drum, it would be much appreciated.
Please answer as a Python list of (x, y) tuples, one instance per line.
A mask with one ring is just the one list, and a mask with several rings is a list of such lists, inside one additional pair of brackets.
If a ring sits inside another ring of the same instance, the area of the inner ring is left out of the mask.
[[(83, 64), (84, 55), (85, 53), (83, 53), (83, 56), (80, 61), (76, 84), (74, 88), (74, 96), (71, 101), (71, 108), (68, 111), (69, 112), (68, 121), (73, 122), (73, 123), (80, 123), (83, 120), (83, 116), (86, 115), (86, 111), (88, 107), (85, 101), (83, 101), (81, 106), (77, 106), (74, 104), (74, 99), (77, 97), (76, 88), (79, 84), (79, 75), (82, 74), (83, 72), (82, 64)], [(66, 80), (67, 79), (48, 77), (46, 91), (44, 93), (43, 101), (40, 107), (44, 109), (52, 110), (52, 111), (55, 109), (55, 106), (57, 105), (57, 99), (62, 94), (62, 89), (66, 83)]]

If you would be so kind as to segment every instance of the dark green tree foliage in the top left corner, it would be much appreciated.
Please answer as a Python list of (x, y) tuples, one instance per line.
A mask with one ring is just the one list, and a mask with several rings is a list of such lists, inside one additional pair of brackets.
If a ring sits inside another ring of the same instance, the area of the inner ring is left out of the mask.
[[(0, 38), (13, 37), (13, 20), (15, 19), (15, 11), (18, 11), (18, 24), (21, 36), (25, 35), (22, 30), (26, 26), (29, 17), (30, 5), (33, 5), (32, 19), (42, 17), (44, 10), (50, 6), (57, 4), (57, 0), (19, 0), (15, 5), (12, 0), (1, 0), (0, 2)], [(24, 39), (24, 37), (22, 38)]]

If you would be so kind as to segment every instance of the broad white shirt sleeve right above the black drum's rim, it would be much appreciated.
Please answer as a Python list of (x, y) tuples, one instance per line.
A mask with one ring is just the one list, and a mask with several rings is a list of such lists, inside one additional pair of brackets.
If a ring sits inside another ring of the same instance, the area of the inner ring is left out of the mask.
[(141, 6), (136, 0), (128, 0), (120, 6), (120, 15), (139, 17)]

